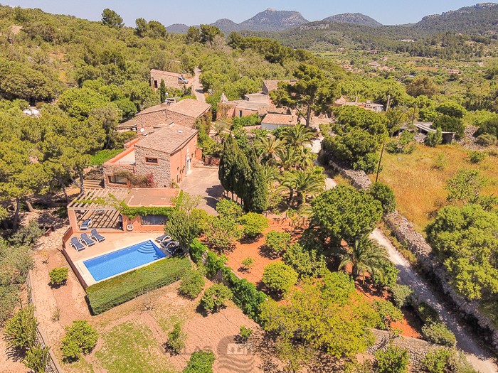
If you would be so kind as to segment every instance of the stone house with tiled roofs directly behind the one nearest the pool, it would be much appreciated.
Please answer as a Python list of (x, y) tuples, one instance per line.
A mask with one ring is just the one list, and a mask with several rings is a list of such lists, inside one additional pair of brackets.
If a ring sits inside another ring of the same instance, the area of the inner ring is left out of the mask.
[(196, 99), (182, 99), (174, 104), (163, 103), (148, 107), (135, 115), (133, 119), (118, 126), (120, 129), (134, 129), (139, 134), (147, 134), (158, 124), (178, 124), (195, 128), (197, 119), (210, 115), (211, 105)]

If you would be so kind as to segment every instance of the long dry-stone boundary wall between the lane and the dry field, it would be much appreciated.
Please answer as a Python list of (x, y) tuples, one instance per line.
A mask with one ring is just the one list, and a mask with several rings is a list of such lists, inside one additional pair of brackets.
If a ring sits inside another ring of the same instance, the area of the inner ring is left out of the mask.
[[(364, 171), (351, 170), (344, 166), (339, 165), (334, 161), (329, 161), (329, 166), (337, 171), (340, 175), (351, 182), (357, 189), (369, 189), (372, 184), (370, 178)], [(479, 303), (477, 301), (468, 301), (466, 298), (457, 293), (447, 279), (447, 274), (444, 267), (434, 258), (432, 248), (425, 241), (422, 234), (415, 231), (413, 224), (411, 224), (406, 217), (401, 215), (398, 210), (383, 217), (386, 225), (393, 232), (394, 237), (398, 239), (401, 244), (415, 254), (418, 264), (422, 269), (429, 274), (433, 274), (435, 279), (440, 283), (443, 291), (447, 296), (450, 296), (452, 303), (455, 303), (467, 316), (475, 318), (481, 328), (487, 329), (492, 333), (492, 345), (495, 350), (498, 350), (498, 330), (492, 323), (492, 320), (484, 315), (479, 310)]]

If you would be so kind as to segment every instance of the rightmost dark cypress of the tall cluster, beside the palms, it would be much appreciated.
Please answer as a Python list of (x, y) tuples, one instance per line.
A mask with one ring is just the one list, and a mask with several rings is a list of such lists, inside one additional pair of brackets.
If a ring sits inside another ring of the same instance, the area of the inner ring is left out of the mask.
[(258, 162), (254, 149), (250, 150), (247, 158), (250, 176), (245, 182), (244, 209), (261, 213), (266, 210), (268, 204), (267, 180), (265, 180), (263, 166)]

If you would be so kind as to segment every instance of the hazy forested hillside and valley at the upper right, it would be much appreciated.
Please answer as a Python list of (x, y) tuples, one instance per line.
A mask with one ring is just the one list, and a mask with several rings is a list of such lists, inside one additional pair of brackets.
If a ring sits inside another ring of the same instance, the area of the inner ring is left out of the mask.
[(441, 15), (426, 16), (418, 23), (400, 26), (372, 27), (331, 22), (325, 18), (323, 21), (305, 23), (297, 28), (265, 33), (263, 36), (275, 38), (292, 48), (412, 51), (415, 55), (428, 57), (438, 55), (440, 47), (445, 45), (443, 41), (451, 39), (450, 43), (455, 44), (452, 48), (455, 53), (465, 52), (472, 57), (487, 53), (488, 45), (498, 39), (498, 4), (469, 6)]

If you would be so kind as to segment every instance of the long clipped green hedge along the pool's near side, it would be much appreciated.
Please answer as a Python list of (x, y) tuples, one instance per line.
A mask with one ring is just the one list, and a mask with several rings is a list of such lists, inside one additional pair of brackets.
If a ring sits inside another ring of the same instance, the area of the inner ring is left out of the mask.
[(189, 259), (169, 258), (136, 269), (86, 288), (92, 314), (110, 310), (140, 296), (144, 289), (153, 290), (181, 279), (191, 269)]

